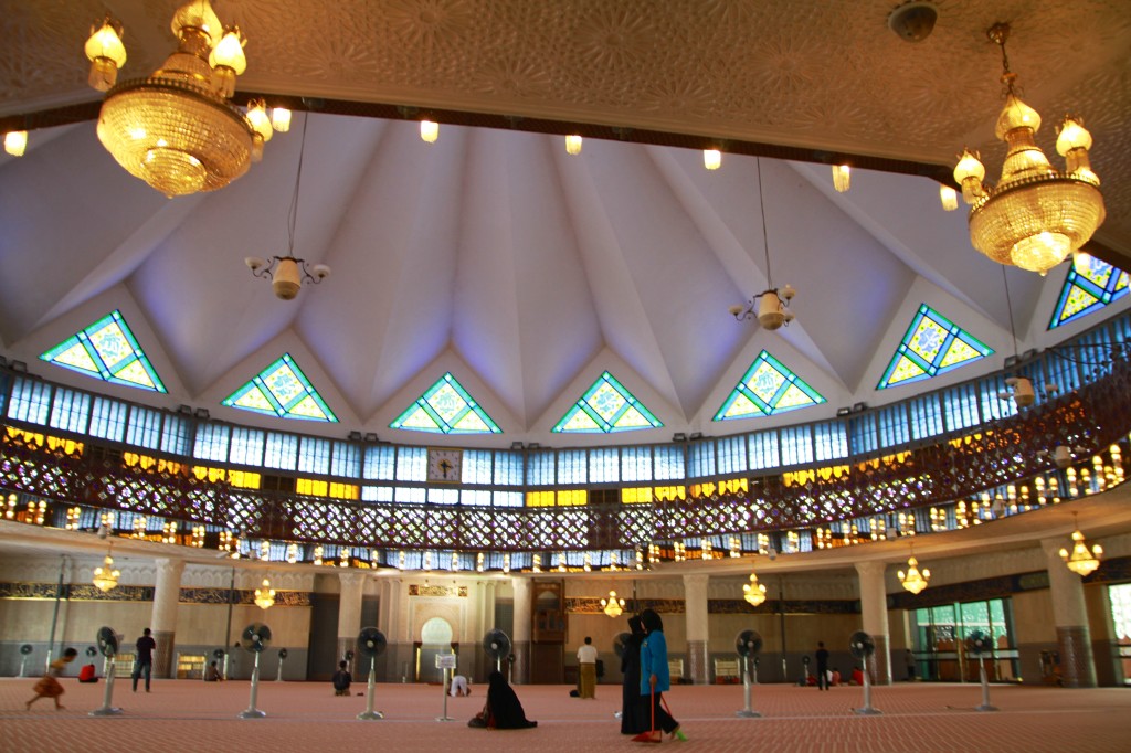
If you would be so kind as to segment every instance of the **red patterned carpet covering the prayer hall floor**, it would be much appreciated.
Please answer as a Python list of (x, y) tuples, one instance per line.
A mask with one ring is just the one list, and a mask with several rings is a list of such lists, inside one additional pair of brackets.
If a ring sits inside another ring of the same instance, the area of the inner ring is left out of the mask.
[[(264, 719), (239, 719), (248, 708), (247, 682), (221, 685), (199, 681), (156, 681), (154, 692), (131, 693), (129, 681), (114, 686), (123, 715), (94, 718), (105, 686), (63, 681), (63, 711), (50, 699), (24, 709), (34, 678), (0, 680), (0, 750), (44, 751), (628, 751), (655, 748), (620, 735), (613, 712), (620, 687), (599, 685), (596, 700), (569, 698), (566, 686), (518, 686), (536, 729), (469, 729), (466, 721), (483, 703), (482, 686), (470, 698), (448, 699), (443, 713), (439, 686), (378, 685), (374, 707), (386, 718), (359, 721), (365, 698), (336, 698), (329, 684), (264, 682), (257, 708)], [(364, 691), (364, 685), (354, 685)], [(875, 687), (872, 706), (883, 713), (856, 716), (860, 687), (818, 692), (809, 687), (758, 685), (752, 708), (761, 719), (740, 719), (742, 687), (680, 686), (668, 695), (689, 741), (663, 748), (792, 753), (887, 753), (940, 751), (996, 753), (1131, 751), (1131, 689), (1062, 690), (994, 686), (998, 712), (976, 712), (977, 685), (897, 684)]]

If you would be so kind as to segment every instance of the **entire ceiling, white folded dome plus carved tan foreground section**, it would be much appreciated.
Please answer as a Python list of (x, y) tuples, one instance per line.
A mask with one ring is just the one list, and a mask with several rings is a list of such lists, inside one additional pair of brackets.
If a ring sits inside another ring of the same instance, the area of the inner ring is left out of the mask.
[[(1007, 279), (1017, 352), (1095, 317), (1050, 330), (1068, 265), (1003, 275), (923, 175), (946, 175), (964, 145), (1000, 170), (985, 29), (1010, 20), (1011, 68), (1046, 120), (1038, 141), (1057, 162), (1053, 123), (1085, 116), (1107, 208), (1093, 251), (1131, 267), (1131, 8), (940, 0), (933, 34), (912, 44), (887, 28), (893, 5), (217, 0), (250, 40), (239, 89), (299, 112), (232, 185), (166, 199), (114, 163), (93, 120), (63, 121), (97, 112), (90, 21), (107, 9), (123, 21), (121, 76), (144, 76), (174, 46), (176, 3), (12, 3), (0, 124), (45, 127), (24, 157), (0, 157), (3, 352), (55, 381), (235, 423), (467, 447), (731, 434), (1001, 369), (1015, 354)], [(425, 144), (422, 113), (459, 115), (437, 114)], [(568, 155), (569, 124), (611, 138)], [(703, 168), (703, 139), (723, 147), (719, 170)], [(854, 168), (839, 193), (830, 154), (901, 167)], [(294, 254), (333, 274), (280, 301), (244, 258), (286, 256), (296, 183)], [(787, 327), (728, 313), (785, 283)], [(922, 304), (993, 353), (878, 390)], [(115, 310), (167, 393), (40, 360)], [(821, 399), (713, 421), (763, 350)], [(284, 354), (339, 423), (222, 405)], [(604, 372), (662, 425), (553, 433)], [(390, 429), (449, 373), (501, 433)]]

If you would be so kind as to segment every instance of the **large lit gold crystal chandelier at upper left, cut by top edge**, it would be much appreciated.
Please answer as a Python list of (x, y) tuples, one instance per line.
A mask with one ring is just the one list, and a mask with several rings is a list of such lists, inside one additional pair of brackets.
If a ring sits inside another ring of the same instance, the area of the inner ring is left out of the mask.
[(122, 26), (109, 17), (86, 43), (88, 83), (106, 92), (98, 140), (127, 172), (165, 196), (224, 188), (262, 156), (271, 123), (261, 102), (247, 115), (228, 98), (247, 68), (238, 26), (223, 28), (208, 0), (173, 15), (176, 52), (147, 78), (116, 84)]

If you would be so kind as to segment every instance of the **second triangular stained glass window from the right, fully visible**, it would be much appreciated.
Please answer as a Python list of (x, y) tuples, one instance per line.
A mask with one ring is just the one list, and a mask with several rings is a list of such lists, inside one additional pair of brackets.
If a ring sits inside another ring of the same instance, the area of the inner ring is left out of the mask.
[(924, 303), (875, 389), (931, 379), (991, 353), (993, 348)]

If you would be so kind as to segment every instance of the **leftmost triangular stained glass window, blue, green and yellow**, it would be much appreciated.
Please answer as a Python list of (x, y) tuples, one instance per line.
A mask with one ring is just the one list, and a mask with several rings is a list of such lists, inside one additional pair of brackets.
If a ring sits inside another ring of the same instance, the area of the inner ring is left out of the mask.
[(40, 356), (114, 384), (167, 392), (120, 311), (112, 311)]

